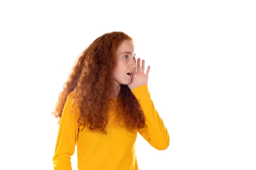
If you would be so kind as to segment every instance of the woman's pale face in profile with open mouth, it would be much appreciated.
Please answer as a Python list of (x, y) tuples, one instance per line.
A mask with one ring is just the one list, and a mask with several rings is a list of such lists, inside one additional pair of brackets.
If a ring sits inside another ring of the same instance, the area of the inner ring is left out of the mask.
[(116, 51), (116, 67), (113, 71), (114, 83), (117, 86), (128, 85), (131, 74), (136, 71), (134, 44), (129, 40), (122, 41)]

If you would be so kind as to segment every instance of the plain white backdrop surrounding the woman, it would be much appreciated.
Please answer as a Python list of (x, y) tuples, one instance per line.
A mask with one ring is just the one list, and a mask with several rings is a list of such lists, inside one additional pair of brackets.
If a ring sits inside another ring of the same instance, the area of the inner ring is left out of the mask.
[(76, 57), (124, 31), (151, 65), (170, 135), (163, 151), (138, 135), (139, 169), (255, 170), (255, 9), (253, 0), (0, 1), (0, 169), (53, 170), (51, 112)]

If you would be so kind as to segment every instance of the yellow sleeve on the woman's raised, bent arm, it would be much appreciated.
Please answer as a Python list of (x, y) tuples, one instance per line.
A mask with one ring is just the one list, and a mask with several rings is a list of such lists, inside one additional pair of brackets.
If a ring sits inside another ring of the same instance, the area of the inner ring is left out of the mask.
[(148, 85), (131, 90), (134, 94), (145, 115), (146, 126), (139, 129), (138, 132), (151, 146), (157, 150), (165, 150), (169, 146), (170, 138), (163, 120), (159, 116), (151, 100)]

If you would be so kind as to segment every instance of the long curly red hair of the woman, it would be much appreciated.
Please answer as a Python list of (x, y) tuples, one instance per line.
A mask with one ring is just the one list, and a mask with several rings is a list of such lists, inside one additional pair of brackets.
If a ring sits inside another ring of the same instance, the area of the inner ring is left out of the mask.
[[(67, 96), (73, 92), (79, 107), (79, 125), (88, 125), (90, 131), (107, 134), (105, 127), (108, 125), (108, 112), (113, 101), (116, 51), (123, 40), (133, 42), (124, 32), (103, 34), (81, 53), (64, 83), (63, 91), (58, 95), (55, 111), (52, 112), (59, 119), (58, 124)], [(129, 131), (145, 127), (142, 108), (127, 85), (121, 85), (117, 99), (118, 124), (123, 120)]]

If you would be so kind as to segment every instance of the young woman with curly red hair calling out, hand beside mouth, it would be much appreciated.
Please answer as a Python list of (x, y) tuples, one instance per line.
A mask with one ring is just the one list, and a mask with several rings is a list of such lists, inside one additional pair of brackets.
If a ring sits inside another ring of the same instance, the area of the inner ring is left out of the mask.
[(81, 54), (53, 112), (59, 119), (55, 170), (138, 170), (137, 133), (158, 150), (169, 134), (148, 92), (145, 60), (140, 64), (131, 37), (111, 32)]

